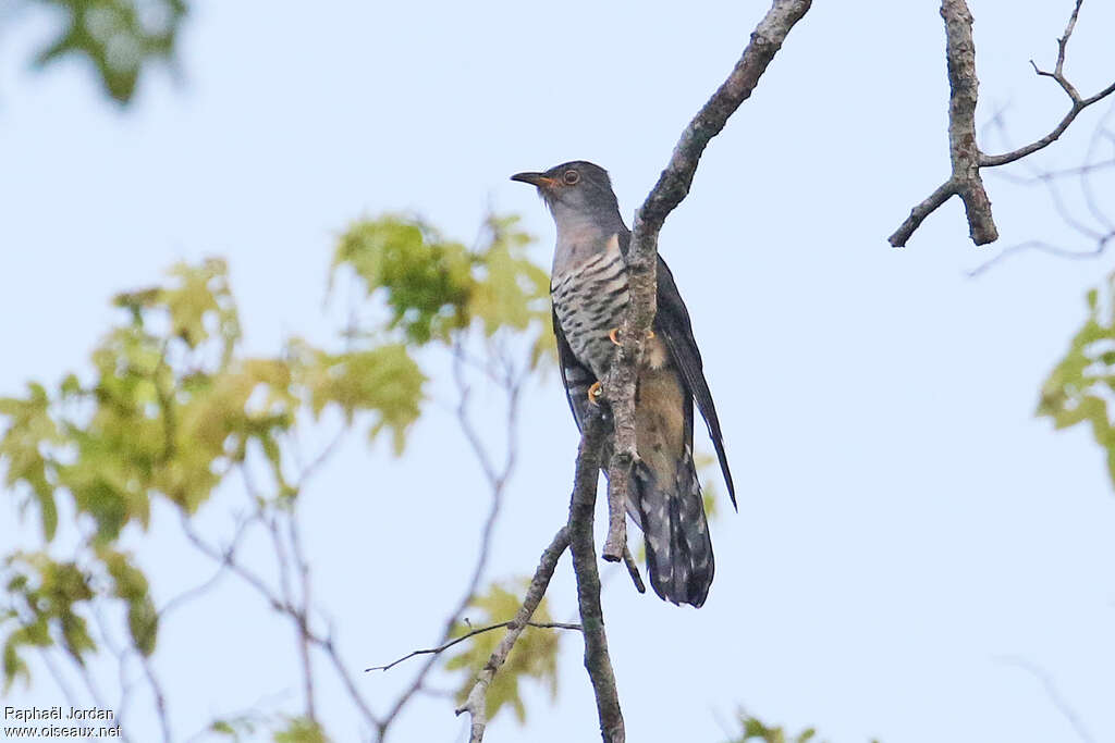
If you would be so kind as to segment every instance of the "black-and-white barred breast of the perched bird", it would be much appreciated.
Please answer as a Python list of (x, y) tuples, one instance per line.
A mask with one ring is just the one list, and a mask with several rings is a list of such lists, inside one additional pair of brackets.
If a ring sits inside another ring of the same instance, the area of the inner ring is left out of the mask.
[(603, 251), (566, 265), (551, 278), (550, 295), (573, 355), (603, 379), (615, 353), (609, 331), (628, 303), (627, 264), (613, 236)]

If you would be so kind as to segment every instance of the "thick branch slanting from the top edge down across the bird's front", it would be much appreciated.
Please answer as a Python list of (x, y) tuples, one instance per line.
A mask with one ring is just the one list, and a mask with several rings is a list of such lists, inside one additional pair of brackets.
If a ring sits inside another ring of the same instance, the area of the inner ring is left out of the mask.
[(763, 72), (782, 49), (789, 30), (802, 20), (811, 4), (811, 0), (775, 0), (752, 33), (750, 42), (728, 79), (681, 133), (669, 165), (634, 214), (627, 255), (631, 302), (620, 334), (622, 344), (603, 384), (615, 430), (615, 446), (608, 467), (609, 529), (603, 553), (607, 560), (622, 559), (627, 545), (624, 506), (631, 467), (638, 457), (634, 434), (636, 370), (658, 310), (658, 233), (666, 217), (689, 194), (705, 147), (720, 134), (739, 105), (750, 97)]

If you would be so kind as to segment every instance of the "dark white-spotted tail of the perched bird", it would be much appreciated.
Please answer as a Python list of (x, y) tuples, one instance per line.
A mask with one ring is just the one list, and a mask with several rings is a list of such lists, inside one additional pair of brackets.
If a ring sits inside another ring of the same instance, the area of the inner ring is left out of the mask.
[(679, 462), (676, 482), (659, 482), (643, 462), (636, 465), (632, 480), (638, 512), (631, 515), (646, 537), (651, 587), (668, 602), (701, 606), (715, 560), (692, 458)]

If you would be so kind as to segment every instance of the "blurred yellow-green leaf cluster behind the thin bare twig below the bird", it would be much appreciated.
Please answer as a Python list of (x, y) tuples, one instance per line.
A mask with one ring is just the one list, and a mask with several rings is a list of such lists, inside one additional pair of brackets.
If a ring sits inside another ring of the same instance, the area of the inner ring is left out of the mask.
[[(515, 616), (522, 604), (523, 592), (529, 580), (516, 580), (508, 585), (495, 583), (485, 594), (473, 598), (471, 606), (479, 616), (469, 624), (458, 624), (453, 637), (459, 637), (474, 627), (487, 626), (506, 622)], [(540, 624), (552, 622), (546, 599), (543, 598), (534, 612), (533, 622)], [(526, 706), (520, 692), (524, 678), (533, 678), (550, 692), (551, 697), (558, 695), (558, 651), (561, 645), (560, 629), (525, 627), (518, 642), (507, 656), (507, 662), (492, 680), (487, 692), (487, 716), (493, 718), (504, 705), (510, 704), (515, 711), (520, 723), (526, 720)], [(466, 641), (465, 649), (452, 656), (445, 663), (447, 671), (463, 671), (460, 685), (457, 687), (457, 702), (464, 703), (477, 674), (484, 668), (488, 657), (495, 651), (503, 633), (486, 632)]]

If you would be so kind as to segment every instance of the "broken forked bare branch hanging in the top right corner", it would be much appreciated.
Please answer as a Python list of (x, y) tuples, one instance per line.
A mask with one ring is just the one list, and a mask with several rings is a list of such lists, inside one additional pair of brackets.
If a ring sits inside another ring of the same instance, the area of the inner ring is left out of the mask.
[(968, 216), (968, 231), (972, 242), (986, 245), (999, 238), (991, 215), (991, 199), (983, 188), (980, 168), (997, 167), (1021, 159), (1056, 141), (1068, 126), (1088, 106), (1115, 92), (1115, 82), (1090, 98), (1083, 98), (1065, 78), (1065, 51), (1076, 28), (1076, 19), (1084, 0), (1076, 0), (1065, 33), (1057, 40), (1057, 65), (1051, 72), (1034, 65), (1039, 76), (1053, 78), (1072, 100), (1072, 107), (1053, 131), (1025, 147), (1001, 155), (985, 155), (976, 139), (976, 104), (979, 79), (976, 76), (976, 43), (972, 38), (972, 14), (964, 0), (942, 0), (944, 19), (946, 59), (949, 68), (949, 157), (952, 174), (937, 190), (910, 211), (910, 216), (899, 226), (889, 242), (903, 247), (930, 214), (953, 196), (960, 196)]

